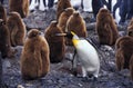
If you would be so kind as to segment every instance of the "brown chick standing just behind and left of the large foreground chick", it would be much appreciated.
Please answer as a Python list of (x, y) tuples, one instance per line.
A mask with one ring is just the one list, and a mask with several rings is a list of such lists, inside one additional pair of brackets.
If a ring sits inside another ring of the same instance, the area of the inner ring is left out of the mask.
[(25, 25), (18, 12), (10, 12), (8, 18), (11, 46), (23, 46), (25, 39)]

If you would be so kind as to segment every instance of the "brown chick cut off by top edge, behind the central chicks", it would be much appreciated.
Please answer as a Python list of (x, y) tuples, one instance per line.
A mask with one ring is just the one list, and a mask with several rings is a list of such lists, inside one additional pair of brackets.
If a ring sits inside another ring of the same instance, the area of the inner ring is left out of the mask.
[(59, 20), (60, 14), (63, 12), (64, 9), (72, 8), (70, 0), (59, 0), (58, 8), (57, 8), (57, 20)]

